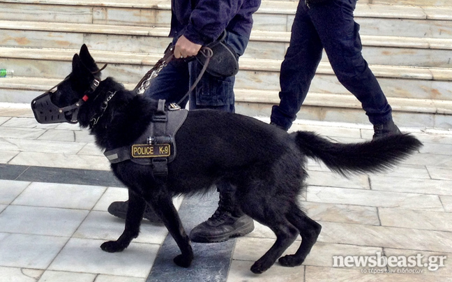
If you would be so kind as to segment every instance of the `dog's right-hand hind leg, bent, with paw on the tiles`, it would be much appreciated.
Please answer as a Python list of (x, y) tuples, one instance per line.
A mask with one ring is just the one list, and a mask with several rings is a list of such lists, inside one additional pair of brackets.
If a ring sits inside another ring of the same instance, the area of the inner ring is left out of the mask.
[(287, 220), (298, 228), (301, 235), (299, 249), (293, 255), (285, 255), (279, 259), (281, 265), (294, 267), (301, 265), (309, 254), (312, 246), (317, 242), (322, 225), (308, 218), (296, 204), (292, 205), (291, 211), (287, 214)]

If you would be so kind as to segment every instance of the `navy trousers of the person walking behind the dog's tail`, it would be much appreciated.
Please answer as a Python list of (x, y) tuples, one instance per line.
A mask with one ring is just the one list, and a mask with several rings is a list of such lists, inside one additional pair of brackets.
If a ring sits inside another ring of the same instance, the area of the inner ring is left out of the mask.
[(299, 1), (290, 45), (280, 71), (280, 104), (271, 121), (285, 129), (292, 126), (308, 94), (322, 50), (339, 82), (361, 102), (372, 124), (391, 120), (391, 106), (375, 75), (361, 54), (359, 24), (354, 22), (356, 0), (330, 0), (306, 6)]

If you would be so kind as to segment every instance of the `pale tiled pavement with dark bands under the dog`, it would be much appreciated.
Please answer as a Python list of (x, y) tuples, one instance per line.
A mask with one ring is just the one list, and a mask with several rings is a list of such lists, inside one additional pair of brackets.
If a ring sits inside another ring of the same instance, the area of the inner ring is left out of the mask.
[[(370, 126), (356, 124), (300, 121), (292, 129), (340, 142), (372, 135)], [(319, 240), (301, 267), (276, 264), (257, 276), (249, 268), (274, 241), (258, 224), (243, 238), (193, 244), (189, 269), (172, 263), (176, 248), (165, 228), (146, 221), (126, 251), (101, 251), (102, 242), (123, 230), (107, 206), (127, 192), (93, 138), (78, 126), (37, 124), (27, 107), (0, 104), (0, 281), (452, 281), (452, 132), (402, 130), (412, 131), (424, 147), (386, 174), (345, 179), (309, 162), (301, 200), (323, 226)], [(188, 232), (209, 217), (216, 197), (176, 199)], [(423, 263), (435, 255), (446, 260), (436, 271), (333, 266), (335, 255), (379, 252), (398, 262), (418, 254)]]

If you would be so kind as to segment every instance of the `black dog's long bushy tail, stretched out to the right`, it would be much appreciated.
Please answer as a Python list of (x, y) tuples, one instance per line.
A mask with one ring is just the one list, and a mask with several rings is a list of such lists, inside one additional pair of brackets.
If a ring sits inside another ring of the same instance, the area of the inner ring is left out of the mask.
[(322, 161), (341, 175), (382, 172), (422, 147), (421, 141), (409, 134), (354, 144), (331, 142), (308, 131), (298, 131), (292, 135), (303, 154)]

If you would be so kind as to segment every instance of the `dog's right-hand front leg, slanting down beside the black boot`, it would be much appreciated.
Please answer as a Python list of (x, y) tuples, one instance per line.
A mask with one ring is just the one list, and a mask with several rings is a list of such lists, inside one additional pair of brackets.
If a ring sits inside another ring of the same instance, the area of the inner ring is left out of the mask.
[(193, 249), (190, 245), (190, 238), (183, 229), (181, 218), (179, 218), (179, 214), (173, 205), (172, 198), (167, 193), (156, 193), (149, 198), (149, 204), (156, 211), (156, 214), (162, 218), (169, 234), (181, 249), (181, 254), (174, 258), (174, 263), (179, 267), (190, 267), (193, 261)]

